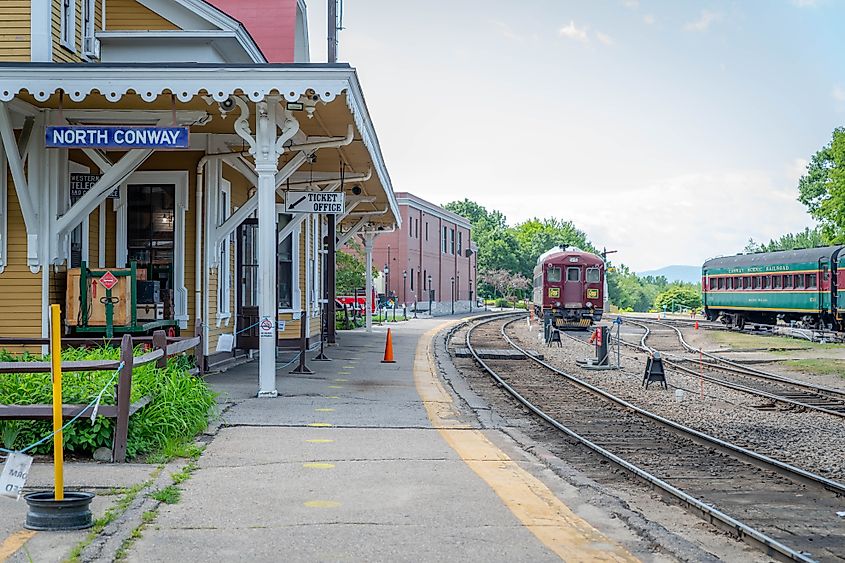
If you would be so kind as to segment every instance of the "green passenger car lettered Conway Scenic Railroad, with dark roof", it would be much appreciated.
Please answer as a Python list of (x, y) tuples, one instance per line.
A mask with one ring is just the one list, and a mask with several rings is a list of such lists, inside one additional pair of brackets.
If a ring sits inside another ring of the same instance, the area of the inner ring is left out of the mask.
[(826, 246), (708, 260), (702, 266), (704, 312), (710, 320), (721, 318), (740, 328), (746, 322), (782, 320), (842, 329), (837, 288), (845, 288), (843, 249)]

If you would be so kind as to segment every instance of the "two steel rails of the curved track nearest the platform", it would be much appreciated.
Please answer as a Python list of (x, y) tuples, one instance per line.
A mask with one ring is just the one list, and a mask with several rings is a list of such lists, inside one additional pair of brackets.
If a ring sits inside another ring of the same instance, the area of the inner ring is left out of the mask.
[[(657, 489), (659, 489), (659, 490), (663, 491), (664, 493), (668, 494), (670, 497), (680, 501), (682, 505), (685, 505), (687, 508), (696, 512), (705, 521), (707, 521), (711, 524), (714, 524), (714, 525), (720, 525), (720, 527), (726, 528), (726, 529), (734, 532), (743, 541), (746, 541), (748, 543), (755, 545), (758, 548), (761, 548), (767, 555), (784, 558), (787, 561), (802, 561), (802, 562), (813, 562), (813, 561), (815, 561), (814, 559), (808, 557), (807, 555), (805, 555), (801, 552), (795, 551), (794, 549), (780, 543), (779, 541), (777, 541), (773, 538), (770, 538), (769, 536), (767, 536), (763, 532), (761, 532), (761, 531), (759, 531), (755, 528), (752, 528), (751, 526), (749, 526), (749, 525), (747, 525), (743, 522), (740, 522), (739, 520), (733, 518), (732, 516), (729, 516), (729, 515), (725, 514), (724, 512), (721, 512), (717, 508), (715, 508), (715, 507), (713, 507), (713, 506), (711, 506), (711, 505), (709, 505), (709, 504), (707, 504), (703, 501), (698, 500), (697, 498), (685, 493), (684, 491), (682, 491), (681, 489), (678, 489), (677, 487), (674, 487), (673, 485), (670, 485), (666, 481), (663, 481), (662, 479), (660, 479), (659, 477), (649, 473), (648, 471), (645, 471), (644, 469), (642, 469), (642, 468), (622, 459), (621, 457), (617, 456), (616, 454), (602, 448), (598, 444), (590, 441), (589, 439), (585, 438), (584, 436), (581, 436), (580, 434), (576, 433), (574, 430), (572, 430), (572, 429), (568, 428), (567, 426), (563, 425), (561, 422), (559, 422), (555, 418), (551, 417), (546, 412), (544, 412), (542, 409), (540, 409), (538, 406), (534, 405), (528, 399), (523, 397), (518, 391), (516, 391), (516, 389), (511, 387), (504, 379), (502, 379), (502, 377), (498, 373), (496, 373), (496, 371), (493, 370), (483, 359), (481, 359), (481, 357), (478, 355), (478, 353), (475, 351), (475, 349), (472, 346), (472, 343), (471, 343), (472, 332), (475, 329), (477, 329), (478, 327), (483, 326), (484, 324), (493, 322), (494, 320), (496, 320), (496, 319), (484, 320), (483, 322), (480, 322), (480, 323), (475, 324), (474, 326), (471, 326), (467, 330), (467, 334), (466, 334), (467, 349), (470, 351), (470, 353), (472, 354), (475, 361), (482, 368), (484, 368), (484, 370), (487, 371), (496, 380), (496, 382), (499, 385), (501, 385), (504, 389), (506, 389), (507, 392), (512, 397), (514, 397), (517, 401), (522, 403), (526, 408), (528, 408), (534, 414), (536, 414), (537, 416), (539, 416), (540, 418), (542, 418), (543, 420), (545, 420), (546, 422), (551, 424), (553, 427), (560, 430), (561, 432), (563, 432), (566, 435), (574, 438), (575, 440), (577, 440), (581, 444), (587, 446), (588, 448), (590, 448), (591, 450), (593, 450), (597, 454), (599, 454), (602, 457), (612, 461), (613, 463), (617, 464), (619, 467), (621, 467), (622, 469), (630, 472), (631, 474), (635, 475), (636, 477), (644, 480), (646, 483), (650, 484), (652, 487), (656, 487)], [(563, 375), (569, 381), (571, 381), (571, 382), (573, 382), (573, 383), (575, 383), (575, 384), (577, 384), (581, 387), (584, 387), (585, 389), (588, 389), (588, 390), (590, 390), (594, 393), (597, 393), (604, 398), (611, 399), (612, 401), (616, 402), (617, 404), (624, 406), (625, 408), (628, 408), (630, 410), (633, 410), (634, 412), (637, 412), (638, 414), (646, 414), (647, 416), (649, 416), (649, 418), (652, 418), (652, 419), (655, 419), (655, 420), (660, 420), (660, 421), (663, 421), (665, 423), (668, 423), (673, 428), (676, 427), (676, 426), (677, 426), (677, 428), (681, 428), (681, 429), (686, 428), (686, 427), (683, 427), (681, 425), (677, 425), (676, 423), (672, 423), (671, 421), (668, 421), (666, 419), (663, 419), (662, 417), (659, 417), (658, 415), (648, 413), (648, 411), (640, 409), (639, 407), (636, 407), (636, 406), (628, 403), (627, 401), (619, 399), (618, 397), (615, 397), (614, 395), (611, 395), (611, 394), (609, 394), (605, 391), (602, 391), (601, 389), (598, 389), (597, 387), (594, 387), (594, 386), (590, 385), (589, 383), (582, 381), (581, 379), (579, 379), (575, 376), (564, 373), (564, 372), (550, 366), (549, 364), (545, 363), (544, 361), (539, 360), (534, 356), (531, 356), (524, 349), (522, 349), (521, 347), (516, 345), (507, 336), (507, 334), (505, 334), (505, 327), (508, 326), (511, 322), (513, 322), (513, 321), (505, 323), (505, 325), (502, 326), (502, 330), (501, 330), (502, 336), (505, 338), (505, 340), (508, 342), (508, 344), (510, 344), (515, 349), (520, 350), (523, 354), (526, 355), (526, 357), (531, 358), (533, 361), (539, 363), (540, 365), (546, 367), (547, 369), (549, 369), (549, 370), (551, 370), (551, 371), (553, 371), (557, 374)], [(702, 433), (700, 433), (696, 430), (693, 430), (691, 428), (688, 429), (688, 430), (692, 434), (692, 437), (695, 437), (695, 436), (705, 437), (706, 436), (706, 435), (704, 435), (704, 434), (702, 434)], [(706, 437), (711, 438), (709, 436), (706, 436)], [(711, 439), (715, 441), (714, 443), (721, 442), (721, 440), (718, 440), (718, 438), (711, 438)], [(695, 441), (698, 441), (698, 440), (695, 440)], [(738, 446), (734, 446), (734, 448), (738, 448)], [(742, 448), (738, 448), (738, 449), (742, 449)], [(753, 452), (749, 452), (749, 453), (753, 453)], [(755, 454), (755, 455), (759, 456), (759, 454)], [(764, 458), (764, 456), (759, 456), (759, 457)], [(764, 458), (764, 459), (766, 459), (766, 458)], [(775, 461), (775, 460), (771, 460), (771, 461)], [(777, 463), (780, 463), (780, 462), (777, 462)], [(786, 464), (782, 464), (782, 465), (786, 465)], [(797, 468), (794, 468), (794, 469), (797, 470)], [(797, 471), (800, 472), (801, 470), (797, 470)], [(804, 473), (806, 473), (806, 472), (804, 472)], [(824, 478), (820, 477), (820, 479), (824, 479)], [(843, 491), (845, 491), (845, 485), (839, 485), (839, 487), (841, 487), (841, 489)]]

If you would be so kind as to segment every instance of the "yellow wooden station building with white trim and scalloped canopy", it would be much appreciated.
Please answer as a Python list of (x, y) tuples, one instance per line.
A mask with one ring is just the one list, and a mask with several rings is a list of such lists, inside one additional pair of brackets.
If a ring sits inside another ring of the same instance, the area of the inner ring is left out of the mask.
[[(110, 307), (115, 334), (198, 327), (209, 364), (259, 350), (275, 395), (277, 347), (320, 338), (330, 239), (400, 220), (356, 71), (294, 52), (202, 0), (0, 3), (0, 336), (46, 337), (53, 303), (105, 334)], [(342, 207), (288, 212), (300, 192)]]

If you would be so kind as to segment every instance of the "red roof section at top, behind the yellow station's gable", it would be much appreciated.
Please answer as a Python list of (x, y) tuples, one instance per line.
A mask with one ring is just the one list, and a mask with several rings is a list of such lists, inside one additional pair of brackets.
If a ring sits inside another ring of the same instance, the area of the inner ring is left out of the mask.
[(206, 1), (241, 22), (267, 62), (294, 62), (297, 0)]

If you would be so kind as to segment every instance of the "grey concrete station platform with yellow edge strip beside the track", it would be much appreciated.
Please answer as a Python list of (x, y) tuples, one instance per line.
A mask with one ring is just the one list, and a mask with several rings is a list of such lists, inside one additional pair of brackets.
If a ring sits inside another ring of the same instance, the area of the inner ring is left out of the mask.
[(628, 560), (487, 440), (428, 354), (443, 319), (341, 333), (314, 375), (210, 378), (224, 427), (130, 561)]

